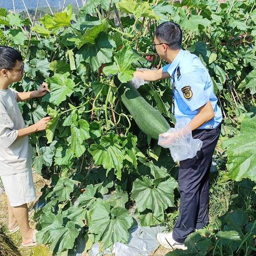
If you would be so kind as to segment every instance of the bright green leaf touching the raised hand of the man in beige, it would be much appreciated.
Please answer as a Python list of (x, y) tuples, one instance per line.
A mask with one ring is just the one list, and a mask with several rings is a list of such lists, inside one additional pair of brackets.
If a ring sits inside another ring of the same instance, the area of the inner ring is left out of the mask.
[(73, 93), (75, 83), (68, 78), (69, 73), (63, 75), (55, 74), (53, 77), (47, 78), (46, 81), (50, 85), (51, 93), (46, 94), (45, 99), (54, 105), (59, 106), (60, 103), (66, 100), (67, 96)]

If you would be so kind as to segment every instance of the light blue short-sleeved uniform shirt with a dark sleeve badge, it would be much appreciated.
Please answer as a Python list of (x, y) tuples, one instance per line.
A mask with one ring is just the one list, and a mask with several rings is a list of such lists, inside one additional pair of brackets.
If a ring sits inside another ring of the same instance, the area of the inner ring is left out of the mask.
[(212, 79), (202, 61), (190, 52), (180, 50), (172, 63), (163, 67), (174, 81), (174, 116), (193, 119), (198, 109), (211, 102), (215, 116), (198, 129), (213, 129), (222, 121), (217, 97), (213, 91)]

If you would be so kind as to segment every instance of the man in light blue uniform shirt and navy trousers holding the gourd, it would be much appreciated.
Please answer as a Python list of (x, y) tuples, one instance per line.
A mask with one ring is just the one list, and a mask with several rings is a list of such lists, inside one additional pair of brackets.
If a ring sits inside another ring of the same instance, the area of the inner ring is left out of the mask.
[(196, 55), (181, 49), (180, 26), (170, 21), (162, 23), (156, 28), (154, 41), (159, 57), (169, 64), (158, 70), (138, 70), (134, 77), (145, 81), (171, 78), (172, 113), (177, 120), (188, 117), (193, 138), (203, 141), (194, 158), (180, 161), (181, 204), (175, 227), (171, 233), (157, 235), (158, 242), (167, 249), (186, 250), (186, 237), (209, 223), (209, 172), (222, 114), (207, 69)]

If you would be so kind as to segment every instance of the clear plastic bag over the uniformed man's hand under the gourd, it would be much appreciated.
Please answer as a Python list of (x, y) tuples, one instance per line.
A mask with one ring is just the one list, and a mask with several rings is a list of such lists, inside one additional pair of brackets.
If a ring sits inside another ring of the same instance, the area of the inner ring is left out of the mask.
[(193, 139), (189, 122), (189, 118), (181, 118), (174, 128), (159, 135), (158, 145), (170, 149), (174, 162), (193, 158), (202, 148), (203, 142)]

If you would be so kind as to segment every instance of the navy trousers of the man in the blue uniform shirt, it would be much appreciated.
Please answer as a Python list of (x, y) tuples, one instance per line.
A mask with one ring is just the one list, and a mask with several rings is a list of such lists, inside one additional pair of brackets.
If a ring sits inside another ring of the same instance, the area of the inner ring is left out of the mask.
[(195, 157), (180, 161), (178, 183), (181, 201), (172, 235), (179, 243), (184, 243), (194, 228), (200, 229), (209, 223), (209, 173), (220, 129), (221, 126), (193, 131), (193, 138), (202, 140), (203, 146)]

